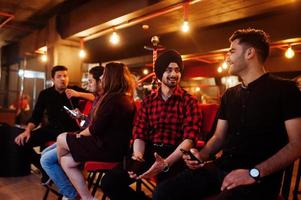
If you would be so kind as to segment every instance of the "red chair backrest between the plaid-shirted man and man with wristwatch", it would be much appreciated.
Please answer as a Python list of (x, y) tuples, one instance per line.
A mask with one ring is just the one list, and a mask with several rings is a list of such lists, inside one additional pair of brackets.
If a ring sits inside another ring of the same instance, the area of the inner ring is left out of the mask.
[(218, 112), (218, 104), (201, 104), (199, 103), (200, 110), (202, 112), (202, 126), (201, 133), (202, 139), (207, 141), (208, 137), (211, 137)]

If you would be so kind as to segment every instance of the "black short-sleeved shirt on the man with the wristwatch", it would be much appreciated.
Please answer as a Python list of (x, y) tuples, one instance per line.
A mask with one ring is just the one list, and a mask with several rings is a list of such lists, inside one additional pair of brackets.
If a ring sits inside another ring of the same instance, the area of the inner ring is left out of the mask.
[(219, 164), (226, 171), (248, 169), (287, 144), (284, 122), (301, 117), (301, 93), (294, 82), (267, 73), (228, 89), (218, 117), (229, 124)]

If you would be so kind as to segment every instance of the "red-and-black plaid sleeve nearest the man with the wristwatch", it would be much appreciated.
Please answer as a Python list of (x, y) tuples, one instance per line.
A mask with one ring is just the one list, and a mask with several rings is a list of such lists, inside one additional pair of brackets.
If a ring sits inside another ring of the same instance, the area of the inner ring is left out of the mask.
[(186, 101), (186, 116), (183, 122), (183, 139), (191, 139), (196, 142), (200, 136), (202, 125), (202, 113), (195, 98), (188, 96)]

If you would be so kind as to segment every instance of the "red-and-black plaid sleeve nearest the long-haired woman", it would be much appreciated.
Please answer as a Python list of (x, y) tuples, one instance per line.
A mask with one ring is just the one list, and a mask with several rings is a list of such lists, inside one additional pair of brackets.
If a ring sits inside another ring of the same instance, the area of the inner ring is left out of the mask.
[(141, 107), (138, 110), (137, 116), (134, 122), (133, 138), (148, 140), (148, 116), (147, 116), (147, 100), (144, 99), (141, 103)]

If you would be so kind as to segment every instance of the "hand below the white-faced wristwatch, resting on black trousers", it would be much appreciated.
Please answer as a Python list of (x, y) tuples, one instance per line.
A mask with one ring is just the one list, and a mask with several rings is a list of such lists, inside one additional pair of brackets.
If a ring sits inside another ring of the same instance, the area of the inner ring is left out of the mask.
[(225, 178), (221, 187), (221, 191), (227, 189), (233, 189), (240, 185), (250, 185), (255, 183), (255, 179), (253, 179), (249, 175), (249, 170), (247, 169), (236, 169), (231, 171)]

